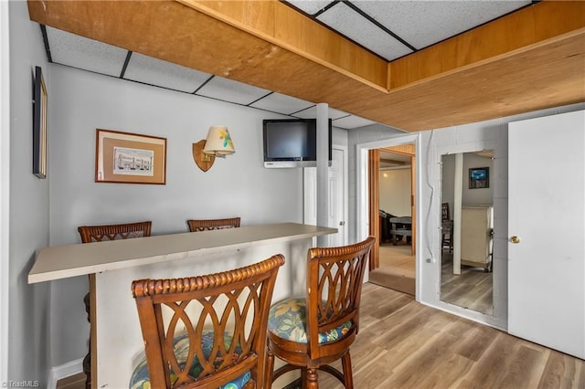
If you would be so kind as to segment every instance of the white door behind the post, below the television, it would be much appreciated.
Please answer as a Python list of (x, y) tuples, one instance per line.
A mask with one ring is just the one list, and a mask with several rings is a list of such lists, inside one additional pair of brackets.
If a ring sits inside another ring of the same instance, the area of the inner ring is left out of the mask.
[[(332, 150), (331, 167), (329, 168), (329, 211), (327, 226), (337, 228), (337, 234), (328, 235), (328, 246), (344, 246), (347, 244), (346, 230), (346, 189), (345, 166), (346, 152), (341, 149)], [(317, 224), (317, 168), (304, 168), (303, 188), (303, 223)]]

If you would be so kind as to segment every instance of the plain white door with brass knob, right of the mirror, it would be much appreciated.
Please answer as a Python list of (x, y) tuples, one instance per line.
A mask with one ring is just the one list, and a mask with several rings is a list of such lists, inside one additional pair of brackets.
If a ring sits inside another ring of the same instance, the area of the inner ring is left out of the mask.
[(585, 111), (508, 138), (508, 331), (585, 358)]

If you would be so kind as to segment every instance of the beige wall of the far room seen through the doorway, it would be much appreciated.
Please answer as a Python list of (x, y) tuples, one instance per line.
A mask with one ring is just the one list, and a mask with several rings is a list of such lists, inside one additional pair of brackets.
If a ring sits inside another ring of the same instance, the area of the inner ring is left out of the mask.
[(379, 208), (394, 216), (410, 216), (410, 169), (381, 170)]

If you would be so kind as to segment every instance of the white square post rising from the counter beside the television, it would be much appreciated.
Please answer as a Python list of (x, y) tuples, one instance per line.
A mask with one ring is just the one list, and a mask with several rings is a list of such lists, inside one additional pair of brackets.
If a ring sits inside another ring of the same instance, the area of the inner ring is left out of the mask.
[[(317, 226), (329, 217), (329, 105), (317, 104)], [(317, 237), (317, 246), (328, 246), (329, 237)]]

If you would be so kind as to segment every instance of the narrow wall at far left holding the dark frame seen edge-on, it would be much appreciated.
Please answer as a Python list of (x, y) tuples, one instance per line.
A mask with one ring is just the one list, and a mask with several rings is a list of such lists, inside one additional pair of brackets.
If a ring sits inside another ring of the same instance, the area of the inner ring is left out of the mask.
[[(51, 98), (40, 28), (28, 19), (26, 2), (9, 3), (10, 23), (10, 221), (8, 379), (38, 380), (48, 368), (50, 285), (28, 285), (35, 250), (48, 246), (48, 179), (32, 174), (33, 71), (40, 66)], [(50, 102), (49, 102), (50, 104)], [(52, 131), (49, 127), (48, 131)], [(2, 177), (5, 180), (5, 177)], [(5, 258), (2, 258), (5, 260)], [(3, 312), (4, 314), (4, 312)], [(5, 347), (5, 344), (2, 345)]]

